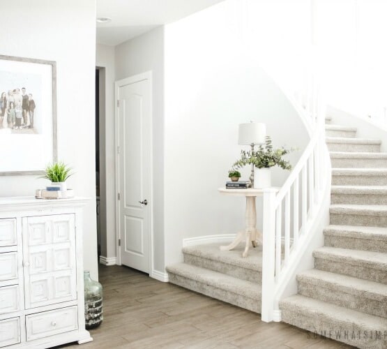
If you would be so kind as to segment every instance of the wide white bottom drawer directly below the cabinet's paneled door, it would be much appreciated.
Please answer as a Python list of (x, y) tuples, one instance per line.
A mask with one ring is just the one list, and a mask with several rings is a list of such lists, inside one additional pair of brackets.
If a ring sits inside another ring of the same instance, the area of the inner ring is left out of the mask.
[(77, 328), (77, 306), (26, 316), (27, 341), (73, 331)]

